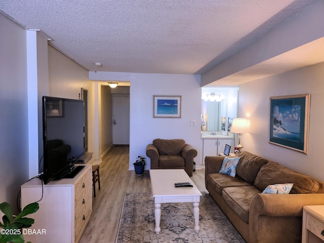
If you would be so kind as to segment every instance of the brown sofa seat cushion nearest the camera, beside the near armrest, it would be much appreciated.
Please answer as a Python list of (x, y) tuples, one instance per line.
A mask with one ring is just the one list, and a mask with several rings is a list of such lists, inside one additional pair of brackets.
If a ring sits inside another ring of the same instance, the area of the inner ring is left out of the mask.
[(223, 198), (231, 209), (246, 223), (249, 223), (249, 212), (252, 197), (261, 191), (255, 186), (225, 187)]

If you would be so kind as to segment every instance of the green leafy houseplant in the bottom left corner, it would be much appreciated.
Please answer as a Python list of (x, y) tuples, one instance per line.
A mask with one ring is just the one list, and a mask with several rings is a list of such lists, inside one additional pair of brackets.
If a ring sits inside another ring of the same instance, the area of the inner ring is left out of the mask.
[[(20, 214), (17, 216), (13, 215), (12, 207), (7, 202), (0, 204), (0, 210), (5, 214), (2, 219), (3, 223), (0, 222), (0, 243), (23, 243), (25, 242), (22, 228), (29, 228), (33, 223), (34, 219), (26, 218), (28, 214), (33, 214), (39, 209), (37, 203), (28, 204)], [(28, 241), (27, 243), (31, 243)]]

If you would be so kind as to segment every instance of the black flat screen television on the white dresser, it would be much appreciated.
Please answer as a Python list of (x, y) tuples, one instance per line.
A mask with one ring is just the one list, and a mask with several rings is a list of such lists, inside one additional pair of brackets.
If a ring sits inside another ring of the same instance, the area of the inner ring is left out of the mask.
[(85, 154), (84, 118), (83, 100), (43, 96), (45, 184), (77, 174), (74, 164)]

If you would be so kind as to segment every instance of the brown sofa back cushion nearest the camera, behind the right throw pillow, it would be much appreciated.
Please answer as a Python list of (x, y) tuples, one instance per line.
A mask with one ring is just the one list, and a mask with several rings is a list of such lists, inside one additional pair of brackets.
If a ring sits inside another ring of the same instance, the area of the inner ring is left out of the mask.
[(268, 185), (284, 183), (294, 183), (291, 194), (316, 193), (319, 189), (319, 183), (313, 178), (292, 171), (273, 161), (261, 167), (254, 185), (264, 191)]

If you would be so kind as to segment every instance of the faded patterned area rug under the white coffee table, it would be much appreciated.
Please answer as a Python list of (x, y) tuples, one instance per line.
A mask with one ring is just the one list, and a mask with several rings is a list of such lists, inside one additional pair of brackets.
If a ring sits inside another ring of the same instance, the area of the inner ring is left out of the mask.
[(245, 243), (209, 194), (199, 203), (199, 233), (194, 232), (191, 203), (161, 204), (161, 231), (154, 231), (151, 193), (127, 193), (121, 212), (116, 243)]

